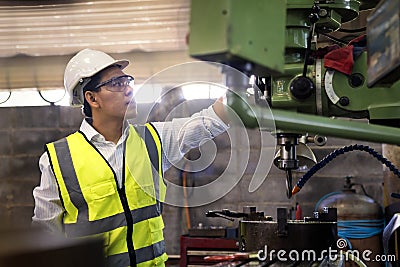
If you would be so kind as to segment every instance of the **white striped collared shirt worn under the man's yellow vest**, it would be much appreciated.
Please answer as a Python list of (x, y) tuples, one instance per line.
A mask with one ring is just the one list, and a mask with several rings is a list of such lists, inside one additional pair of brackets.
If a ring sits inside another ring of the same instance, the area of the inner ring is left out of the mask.
[[(163, 170), (169, 169), (192, 148), (198, 147), (205, 139), (212, 139), (228, 129), (215, 114), (212, 107), (193, 114), (190, 118), (173, 119), (170, 122), (153, 122), (160, 135), (164, 155)], [(99, 152), (114, 169), (118, 186), (122, 181), (123, 146), (128, 131), (125, 130), (117, 144), (105, 140), (86, 120), (83, 120), (80, 131), (93, 143)], [(64, 209), (61, 205), (56, 179), (50, 166), (47, 153), (39, 159), (41, 171), (40, 185), (33, 190), (35, 210), (32, 221), (45, 226), (51, 231), (62, 230)]]

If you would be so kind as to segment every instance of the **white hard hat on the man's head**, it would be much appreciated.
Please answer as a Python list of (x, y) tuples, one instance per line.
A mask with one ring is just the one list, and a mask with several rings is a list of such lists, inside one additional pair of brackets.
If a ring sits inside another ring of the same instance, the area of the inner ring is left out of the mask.
[(64, 87), (69, 93), (71, 105), (83, 104), (83, 87), (90, 78), (101, 70), (116, 65), (124, 69), (129, 65), (126, 59), (115, 60), (110, 55), (89, 48), (83, 49), (71, 58), (64, 72)]

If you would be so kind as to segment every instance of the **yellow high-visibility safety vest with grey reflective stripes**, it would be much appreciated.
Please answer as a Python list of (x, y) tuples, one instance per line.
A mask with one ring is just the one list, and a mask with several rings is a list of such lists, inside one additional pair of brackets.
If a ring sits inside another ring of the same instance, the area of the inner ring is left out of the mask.
[(65, 209), (68, 237), (101, 236), (108, 266), (163, 266), (161, 217), (166, 186), (154, 126), (130, 126), (122, 188), (105, 158), (82, 132), (47, 144)]

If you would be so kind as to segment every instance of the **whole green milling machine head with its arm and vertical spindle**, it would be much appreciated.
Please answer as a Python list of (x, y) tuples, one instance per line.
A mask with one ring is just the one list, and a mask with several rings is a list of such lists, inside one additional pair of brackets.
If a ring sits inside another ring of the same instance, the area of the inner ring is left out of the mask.
[[(400, 144), (399, 5), (398, 0), (191, 1), (190, 55), (253, 77), (259, 91), (250, 99), (249, 79), (222, 70), (231, 90), (228, 104), (247, 127), (272, 130), (268, 122), (274, 121), (280, 147), (274, 163), (286, 171), (288, 192), (291, 171), (299, 168), (296, 147), (306, 133)], [(327, 64), (320, 37), (330, 37), (367, 9), (373, 9), (368, 42), (357, 38), (342, 45), (343, 52), (328, 47), (337, 51)]]

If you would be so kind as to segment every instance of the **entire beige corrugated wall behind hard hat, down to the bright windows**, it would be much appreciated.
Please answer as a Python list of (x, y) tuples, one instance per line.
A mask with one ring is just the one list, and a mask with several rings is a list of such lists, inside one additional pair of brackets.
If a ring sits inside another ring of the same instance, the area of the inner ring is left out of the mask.
[(133, 62), (138, 83), (186, 52), (189, 0), (2, 1), (0, 90), (63, 88), (64, 68), (83, 48)]

